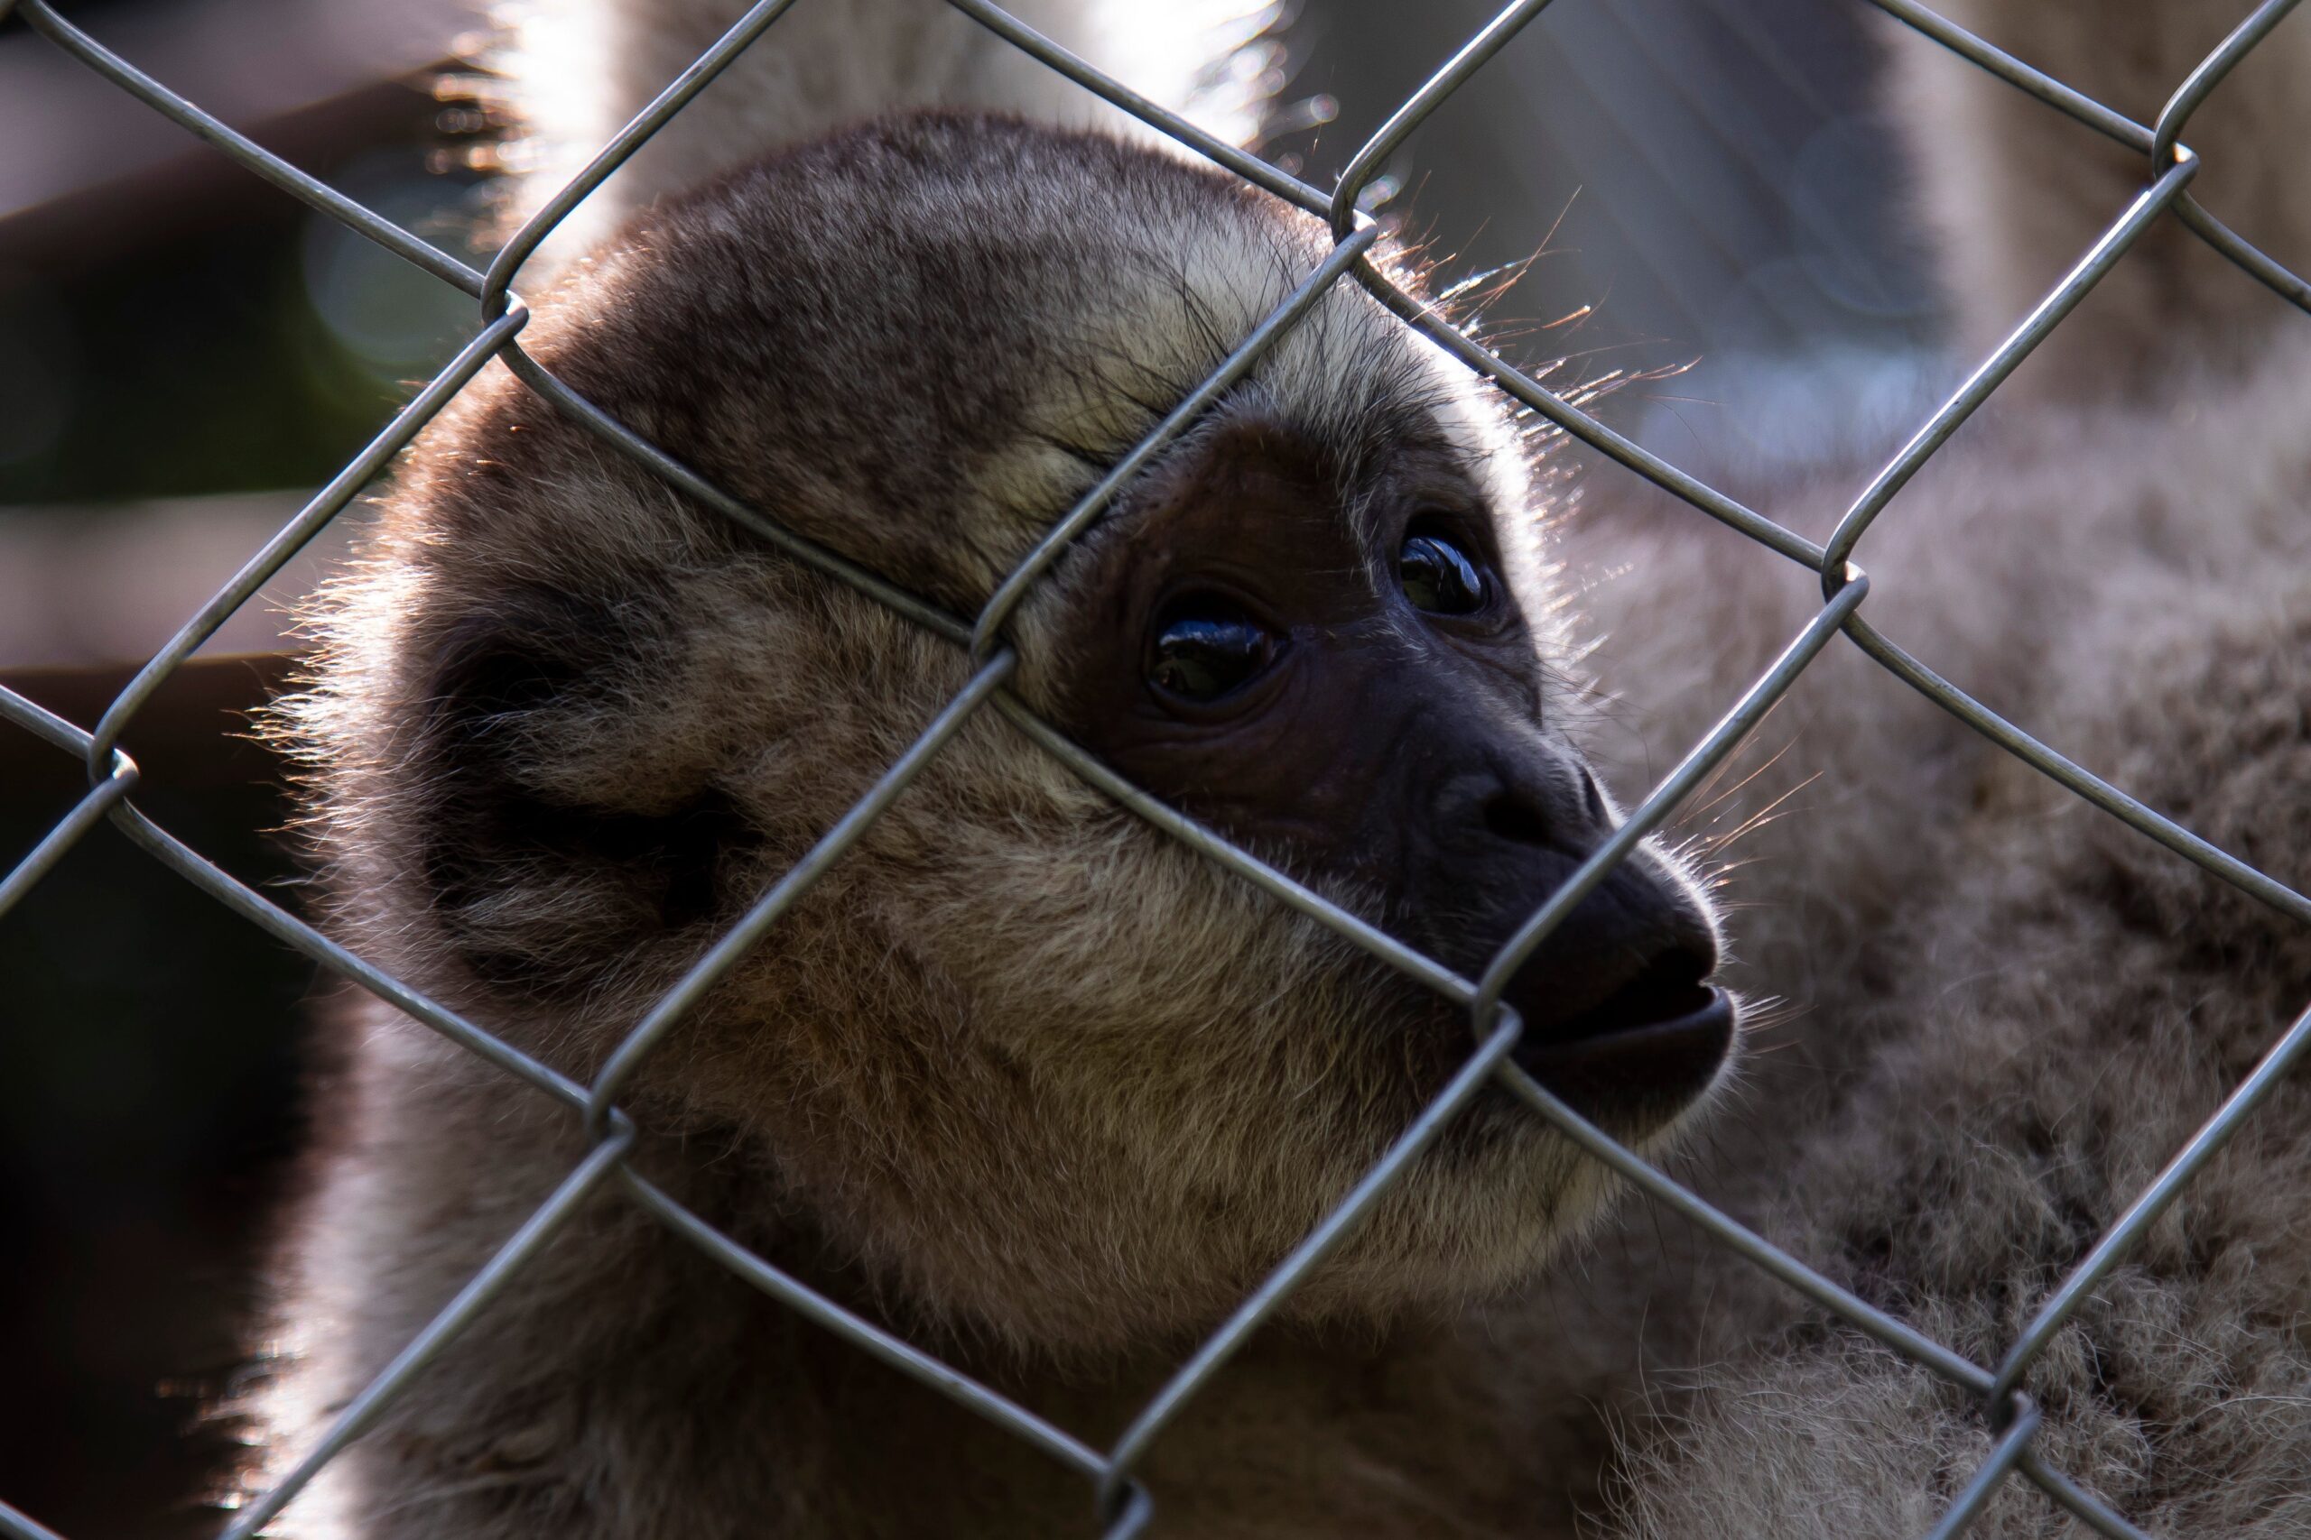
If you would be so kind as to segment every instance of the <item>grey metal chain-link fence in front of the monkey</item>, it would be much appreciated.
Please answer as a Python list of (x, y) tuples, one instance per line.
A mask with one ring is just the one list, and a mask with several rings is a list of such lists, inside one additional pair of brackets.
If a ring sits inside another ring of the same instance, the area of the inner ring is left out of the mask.
[[(1132, 1535), (1146, 1526), (1156, 1510), (1156, 1496), (1135, 1478), (1149, 1443), (1211, 1381), (1220, 1365), (1243, 1346), (1253, 1330), (1257, 1330), (1259, 1323), (1278, 1309), (1285, 1295), (1292, 1293), (1310, 1268), (1315, 1268), (1336, 1244), (1340, 1244), (1343, 1238), (1347, 1238), (1380, 1194), (1414, 1157), (1419, 1157), (1419, 1152), (1486, 1081), (1514, 1092), (1537, 1117), (1544, 1117), (1548, 1124), (1560, 1129), (1590, 1157), (1618, 1171), (1655, 1201), (1685, 1214), (1722, 1244), (1733, 1247), (1745, 1258), (1812, 1298), (1856, 1330), (1874, 1337), (1888, 1348), (1907, 1355), (1932, 1374), (1981, 1399), (1983, 1418), (1994, 1436), (1992, 1452), (1934, 1526), (1932, 1533), (1937, 1538), (1962, 1533), (1985, 1508), (1999, 1485), (2015, 1471), (2091, 1528), (2105, 1535), (2140, 1538), (2142, 1531), (2135, 1528), (2124, 1515), (2112, 1512), (2066, 1473), (2041, 1459), (2031, 1445), (2031, 1436), (2038, 1427), (2038, 1411), (2031, 1406), (2029, 1397), (2022, 1395), (2020, 1383), (2029, 1365), (2041, 1351), (2045, 1351), (2057, 1330), (2073, 1316), (2089, 1291), (2094, 1291), (2094, 1286), (2133, 1249), (2152, 1221), (2182, 1194), (2193, 1173), (2239, 1129), (2242, 1120), (2304, 1053), (2306, 1044), (2311, 1044), (2311, 1014), (2295, 1021), (2295, 1025), (2279, 1039), (2253, 1074), (2249, 1074), (2246, 1081), (2230, 1092), (2223, 1106), (2198, 1129), (2184, 1150), (2168, 1161), (2152, 1187), (2145, 1189), (2117, 1219), (2117, 1224), (2101, 1235), (2091, 1251), (2041, 1304), (2036, 1316), (2015, 1337), (2013, 1346), (1997, 1365), (1978, 1365), (1953, 1348), (1923, 1337), (1902, 1321), (1821, 1277), (1796, 1256), (1789, 1256), (1761, 1235), (1747, 1231), (1736, 1219), (1694, 1196), (1675, 1180), (1585, 1122), (1507, 1057), (1521, 1030), (1514, 1009), (1500, 1000), (1509, 977), (1611, 873), (1611, 868), (1627, 859), (1636, 843), (1662, 824), (1662, 820), (1669, 817), (1669, 813), (1675, 810), (1706, 776), (1710, 776), (1710, 771), (1742, 741), (1752, 727), (1756, 727), (1766, 711), (1791, 688), (1798, 674), (1840, 633), (1860, 646), (1870, 658), (1879, 660), (1897, 679), (1923, 693), (1944, 711), (1950, 711), (1971, 725), (2006, 753), (2020, 757), (2078, 797), (2126, 822), (2145, 838), (2165, 845), (2262, 903), (2311, 924), (2311, 898), (2304, 898), (2237, 857), (2216, 850), (2191, 831), (2149, 810), (2119, 787), (2112, 787), (2091, 771), (2068, 762), (2045, 743), (2038, 743), (2027, 732), (1987, 711), (1967, 693), (1957, 690), (1923, 660), (1879, 635), (1870, 621), (1863, 619), (1870, 580), (1858, 566), (1853, 566), (1853, 556), (1865, 531), (1895, 492), (1900, 492), (1902, 485), (1916, 476), (1916, 471), (1941, 448), (1957, 425), (1964, 423), (1992, 390), (1997, 390), (2015, 365), (2020, 365), (2022, 358), (2041, 339), (2045, 339), (2048, 332), (2064, 321), (2064, 316), (2071, 314), (2085, 293), (2094, 289), (2094, 284), (2117, 261), (2121, 261), (2128, 247), (2133, 247), (2135, 240), (2140, 240), (2142, 233), (2158, 219), (2179, 219), (2198, 238), (2244, 268), (2253, 279), (2267, 284), (2293, 305), (2311, 309), (2311, 284), (2304, 284), (2304, 279), (2295, 277), (2262, 252), (2239, 240), (2191, 196), (2191, 180), (2198, 173), (2200, 162), (2182, 143), (2182, 132), (2191, 120), (2191, 113), (2293, 9), (2295, 0), (2265, 0), (2189, 74), (2189, 79), (2175, 88), (2165, 109), (2152, 125), (2133, 122), (2110, 106), (2071, 90), (2061, 81), (2054, 81), (1987, 46), (1978, 37), (1955, 28), (1914, 0), (1872, 2), (1925, 37), (1939, 42), (1944, 48), (1950, 48), (1981, 69), (1997, 74), (2015, 90), (2029, 92), (2119, 145), (2145, 155), (2147, 162), (2142, 189), (2119, 219), (2103, 231), (2103, 236), (2022, 321), (2022, 326), (2015, 328), (2013, 335), (1999, 344), (1999, 349), (1983, 360), (1978, 369), (1974, 369), (1974, 374), (1925, 420), (1925, 425), (1918, 427), (1909, 443), (1904, 443), (1904, 448), (1867, 483), (1867, 487), (1846, 508), (1844, 519), (1837, 524), (1830, 540), (1826, 545), (1814, 545), (1752, 508), (1745, 508), (1724, 492), (1717, 492), (1715, 487), (1678, 471), (1629, 439), (1615, 434), (1592, 416), (1574, 409), (1486, 346), (1458, 332), (1419, 298), (1405, 293), (1380, 268), (1366, 261), (1366, 254), (1377, 236), (1377, 226), (1370, 217), (1359, 212), (1361, 194), (1380, 175), (1382, 166), (1389, 164), (1391, 155), (1396, 155), (1414, 127), (1419, 127), (1421, 120), (1426, 120), (1463, 81), (1479, 72), (1511, 37), (1532, 23), (1541, 9), (1546, 9), (1548, 0), (1521, 0), (1518, 5), (1509, 5), (1481, 32), (1467, 39), (1458, 55), (1437, 69), (1426, 85), (1421, 85), (1382, 125), (1382, 129), (1373, 134), (1373, 139), (1352, 157), (1347, 171), (1338, 178), (1338, 185), (1329, 192), (1285, 175), (1276, 166), (1220, 143), (1183, 118), (1137, 97), (1128, 88), (1056, 48), (1052, 42), (1026, 30), (987, 0), (950, 0), (954, 9), (964, 12), (975, 23), (1042, 60), (1047, 67), (1070, 76), (1114, 106), (1179, 139), (1183, 145), (1243, 175), (1273, 196), (1327, 219), (1336, 238), (1331, 254), (1313, 272), (1308, 272), (1292, 296), (1266, 321), (1262, 321), (1259, 328), (1253, 330), (1253, 335), (1246, 337), (1227, 356), (1227, 360), (1146, 436), (1146, 441), (1125, 455), (1121, 464), (1116, 464), (1075, 508), (1068, 510), (1063, 519), (1058, 519), (1058, 524), (1049, 529), (1026, 561), (1021, 561), (1019, 568), (1005, 577), (980, 614), (964, 619), (897, 589), (883, 577), (862, 570), (834, 552), (779, 529), (753, 508), (737, 503), (582, 399), (555, 379), (555, 374), (532, 360), (520, 346), (527, 309), (515, 298), (511, 282), (522, 263), (532, 256), (532, 252), (536, 252), (545, 236), (564, 217), (569, 217), (569, 212), (596, 185), (601, 185), (603, 178), (608, 178), (645, 139), (682, 111), (682, 106), (698, 95), (698, 90), (703, 90), (742, 48), (753, 44), (774, 21), (779, 21), (793, 0), (763, 0), (749, 9), (746, 16), (740, 18), (726, 37), (721, 37), (721, 42), (700, 55), (673, 85), (666, 88), (663, 95), (659, 95), (656, 102), (649, 104), (649, 109), (619, 132), (571, 185), (555, 194), (497, 254), (485, 272), (476, 272), (467, 263), (411, 236), (407, 229), (381, 219), (326, 182), (319, 182), (284, 159), (268, 155), (250, 139), (236, 134), (224, 122), (201, 111), (196, 104), (173, 95), (159, 81), (148, 79), (134, 65), (95, 44), (86, 32), (58, 16), (46, 0), (0, 0), (0, 23), (5, 23), (9, 14), (18, 16), (23, 23), (30, 23), (39, 35), (53, 42), (65, 55), (113, 81), (120, 90), (141, 99), (146, 106), (176, 120), (254, 175), (266, 178), (330, 219), (342, 222), (388, 252), (416, 263), (444, 284), (465, 291), (478, 300), (481, 307), (478, 328), (448, 367), (418, 390), (400, 416), (395, 416), (395, 420), (351, 464), (347, 464), (319, 496), (314, 496), (287, 526), (282, 526), (280, 533), (275, 533), (273, 540), (257, 552), (240, 568), (240, 573), (215, 598), (210, 598), (208, 605), (201, 607), (199, 614), (185, 621), (176, 637), (111, 702), (95, 730), (81, 730), (30, 700), (0, 688), (0, 716), (7, 716), (7, 720), (18, 727), (53, 743), (60, 753), (83, 757), (90, 773), (88, 794), (55, 822), (55, 827), (30, 854), (16, 861), (5, 880), (0, 880), (0, 914), (23, 898), (23, 894), (37, 884), (42, 875), (46, 875), (97, 822), (111, 820), (139, 847), (194, 882), (250, 924), (300, 949), (324, 967), (377, 993), (434, 1032), (441, 1032), (451, 1041), (527, 1081), (538, 1092), (559, 1099), (569, 1106), (571, 1115), (585, 1120), (592, 1138), (587, 1157), (566, 1175), (552, 1198), (548, 1198), (497, 1251), (497, 1256), (492, 1256), (490, 1263), (474, 1274), (471, 1281), (467, 1281), (458, 1298), (451, 1300), (451, 1304), (441, 1309), (441, 1314), (434, 1316), (425, 1330), (418, 1332), (418, 1337), (402, 1348), (402, 1353), (358, 1397), (354, 1397), (351, 1404), (344, 1406), (321, 1441), (314, 1448), (303, 1450), (296, 1466), (270, 1492), (263, 1492), (233, 1515), (231, 1524), (224, 1528), (226, 1540), (254, 1535), (275, 1515), (280, 1515), (324, 1464), (328, 1464), (344, 1445), (377, 1422), (386, 1404), (414, 1376), (425, 1374), (434, 1360), (451, 1348), (458, 1332), (490, 1304), (492, 1295), (504, 1288), (506, 1279), (518, 1268), (532, 1265), (532, 1258), (557, 1231), (557, 1226), (562, 1226), (596, 1189), (608, 1184), (622, 1187), (633, 1203), (642, 1205), (670, 1231), (719, 1258), (760, 1291), (857, 1344), (862, 1353), (871, 1353), (904, 1374), (915, 1376), (924, 1385), (952, 1397), (996, 1427), (1008, 1429), (1026, 1443), (1045, 1450), (1063, 1466), (1079, 1471), (1091, 1487), (1091, 1496), (1095, 1498), (1095, 1505), (1086, 1505), (1086, 1512), (1093, 1515), (1086, 1517), (1086, 1531), (1102, 1531), (1116, 1538)], [(1692, 748), (1685, 762), (1678, 764), (1678, 769), (1671, 771), (1638, 803), (1613, 838), (1608, 838), (1578, 868), (1578, 873), (1560, 891), (1555, 891), (1541, 910), (1507, 940), (1507, 944), (1500, 947), (1486, 970), (1474, 979), (1467, 979), (1382, 935), (1366, 921), (1343, 912), (1333, 903), (1327, 903), (1292, 877), (1264, 866), (1209, 829), (1202, 829), (1192, 820), (1146, 797), (1105, 764), (1086, 755), (1079, 746), (1054, 732), (1047, 723), (1031, 716), (1008, 690), (1008, 681), (1015, 670), (1015, 653), (1003, 640), (1003, 623), (1028, 589), (1033, 589), (1061, 550), (1100, 517), (1119, 489), (1144, 464), (1149, 464), (1149, 459), (1158, 455), (1158, 450), (1174, 434), (1218, 402), (1229, 386), (1243, 379), (1264, 349), (1290, 330), (1320, 296), (1340, 282), (1361, 284), (1384, 307), (1400, 316), (1405, 326), (1431, 337), (1454, 358), (1463, 360), (1477, 374), (1495, 381), (1502, 390), (1562, 432), (1592, 446), (1611, 459), (1618, 459), (1629, 471), (1669, 489), (1692, 508), (1731, 524), (1759, 545), (1766, 545), (1789, 561), (1816, 573), (1821, 580), (1823, 603), (1814, 619), (1789, 642), (1779, 658), (1766, 670), (1763, 676), (1756, 679), (1754, 686), (1749, 686), (1749, 690), (1708, 732), (1708, 737)], [(226, 616), (247, 603), (263, 582), (268, 582), (307, 540), (312, 540), (324, 524), (337, 517), (337, 513), (365, 485), (370, 485), (370, 480), (384, 473), (393, 457), (425, 427), (425, 423), (430, 423), (434, 413), (439, 413), (441, 406), (492, 358), (504, 360), (532, 390), (543, 395), (559, 411), (571, 413), (603, 441), (617, 446), (617, 450), (633, 455), (684, 494), (721, 510), (742, 526), (790, 552), (795, 559), (857, 586), (911, 621), (938, 633), (954, 646), (964, 649), (973, 663), (968, 686), (938, 713), (922, 737), (894, 764), (890, 764), (887, 771), (883, 771), (874, 787), (841, 817), (841, 822), (837, 822), (825, 838), (820, 838), (818, 845), (786, 873), (786, 877), (763, 894), (744, 919), (656, 1002), (656, 1007), (608, 1057), (592, 1085), (580, 1085), (499, 1041), (490, 1032), (483, 1032), (455, 1011), (444, 1009), (400, 979), (372, 967), (344, 947), (337, 947), (298, 917), (213, 866), (201, 857), (201, 852), (180, 843), (136, 806), (134, 792), (139, 771), (136, 764), (118, 748), (129, 723), (153, 700), (155, 690), (159, 690), (171, 672), (176, 672), (178, 665), (183, 665), (226, 621)], [(906, 790), (906, 785), (922, 771), (922, 767), (941, 753), (957, 727), (984, 709), (1003, 713), (1086, 783), (1114, 797), (1119, 803), (1149, 820), (1172, 838), (1195, 847), (1246, 882), (1257, 884), (1276, 900), (1331, 926), (1343, 937), (1400, 970), (1410, 979), (1465, 1007), (1479, 1041), (1479, 1048), (1458, 1069), (1444, 1092), (1435, 1097), (1435, 1101), (1412, 1122), (1410, 1129), (1403, 1131), (1403, 1136), (1389, 1147), (1387, 1157), (1373, 1166), (1354, 1191), (1350, 1191), (1347, 1198), (1331, 1210), (1331, 1214), (1292, 1251), (1292, 1256), (1287, 1256), (1266, 1277), (1266, 1281), (1248, 1300), (1243, 1300), (1229, 1321), (1204, 1339), (1190, 1360), (1169, 1378), (1169, 1383), (1162, 1385), (1162, 1390), (1128, 1425), (1123, 1436), (1107, 1450), (1082, 1443), (1065, 1429), (1054, 1427), (1024, 1406), (943, 1365), (929, 1353), (813, 1293), (760, 1256), (749, 1254), (728, 1235), (714, 1231), (707, 1221), (684, 1210), (666, 1191), (626, 1166), (626, 1152), (633, 1145), (636, 1129), (617, 1108), (617, 1092), (633, 1076), (642, 1057), (649, 1055), (659, 1041), (663, 1041), (684, 1014), (746, 954), (758, 937), (763, 937), (770, 926), (779, 924), (781, 914), (786, 914), (786, 910), (811, 887), (811, 882), (844, 857), (844, 852), (883, 813), (883, 808), (887, 808), (892, 799), (899, 797), (899, 792)], [(439, 1371), (455, 1374), (455, 1365), (446, 1365)], [(18, 1515), (5, 1503), (0, 1503), (0, 1531), (23, 1540), (55, 1540), (49, 1528)]]

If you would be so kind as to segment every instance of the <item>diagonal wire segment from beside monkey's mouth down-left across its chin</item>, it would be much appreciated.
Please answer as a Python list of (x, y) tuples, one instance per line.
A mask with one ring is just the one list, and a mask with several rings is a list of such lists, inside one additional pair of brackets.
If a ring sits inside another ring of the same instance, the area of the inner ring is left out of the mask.
[(1340, 1244), (1357, 1233), (1357, 1226), (1373, 1210), (1380, 1196), (1405, 1173), (1421, 1150), (1435, 1143), (1435, 1136), (1444, 1131), (1467, 1099), (1493, 1078), (1493, 1071), (1507, 1060), (1509, 1048), (1516, 1046), (1518, 1034), (1523, 1034), (1525, 1023), (1509, 1007), (1495, 1011), (1500, 1018), (1493, 1034), (1467, 1057), (1465, 1064), (1447, 1081), (1444, 1090), (1412, 1120), (1389, 1152), (1363, 1173), (1363, 1180), (1317, 1224), (1308, 1238), (1292, 1249), (1283, 1263), (1236, 1307), (1236, 1314), (1227, 1318), (1216, 1332), (1204, 1339), (1204, 1346), (1195, 1351), (1179, 1374), (1165, 1381), (1149, 1404), (1132, 1418), (1132, 1425), (1123, 1429), (1114, 1448), (1107, 1452), (1107, 1475), (1100, 1480), (1100, 1512), (1105, 1517), (1121, 1517), (1123, 1505), (1123, 1480), (1132, 1473), (1146, 1455), (1149, 1443), (1172, 1425), (1181, 1406), (1188, 1404), (1197, 1390), (1202, 1390), (1213, 1374), (1220, 1371), (1236, 1348), (1259, 1330), (1259, 1325), (1276, 1314), (1301, 1279), (1306, 1279), (1327, 1256), (1340, 1249)]

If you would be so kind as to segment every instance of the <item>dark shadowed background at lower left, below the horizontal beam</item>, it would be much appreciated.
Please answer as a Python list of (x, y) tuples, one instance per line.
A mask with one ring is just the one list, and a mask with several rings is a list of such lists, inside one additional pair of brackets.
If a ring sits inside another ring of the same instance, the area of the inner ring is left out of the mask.
[[(129, 750), (155, 822), (291, 898), (280, 778), (229, 737), (275, 667), (194, 665)], [(88, 723), (125, 674), (0, 683)], [(14, 861), (86, 776), (7, 727), (0, 787)], [(254, 1323), (314, 967), (102, 824), (0, 924), (0, 1492), (67, 1535), (210, 1533), (229, 1429), (199, 1422)]]

